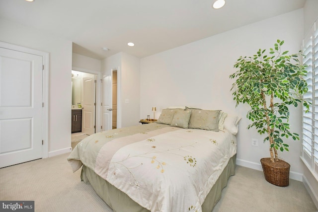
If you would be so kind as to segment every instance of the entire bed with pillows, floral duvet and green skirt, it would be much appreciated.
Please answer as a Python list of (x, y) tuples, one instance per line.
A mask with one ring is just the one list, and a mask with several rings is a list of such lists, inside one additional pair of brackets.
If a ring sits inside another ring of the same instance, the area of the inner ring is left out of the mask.
[(164, 109), (157, 123), (85, 138), (68, 161), (114, 212), (211, 212), (235, 171), (239, 119), (220, 130), (221, 113)]

